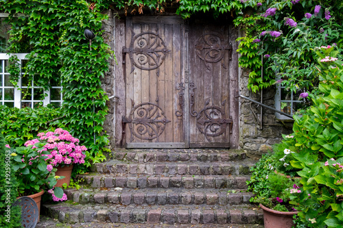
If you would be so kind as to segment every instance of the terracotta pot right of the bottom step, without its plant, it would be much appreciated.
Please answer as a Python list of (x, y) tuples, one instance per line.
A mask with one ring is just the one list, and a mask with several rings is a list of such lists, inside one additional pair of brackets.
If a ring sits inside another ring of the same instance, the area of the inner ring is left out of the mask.
[(291, 228), (294, 226), (293, 215), (298, 212), (279, 212), (263, 206), (259, 206), (263, 210), (263, 220), (265, 228)]

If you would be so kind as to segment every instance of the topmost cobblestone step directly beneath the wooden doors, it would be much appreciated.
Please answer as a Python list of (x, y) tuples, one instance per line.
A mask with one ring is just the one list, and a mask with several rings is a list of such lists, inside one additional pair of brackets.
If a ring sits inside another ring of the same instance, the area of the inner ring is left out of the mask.
[(227, 149), (117, 149), (115, 160), (129, 162), (229, 162), (246, 159), (246, 152)]

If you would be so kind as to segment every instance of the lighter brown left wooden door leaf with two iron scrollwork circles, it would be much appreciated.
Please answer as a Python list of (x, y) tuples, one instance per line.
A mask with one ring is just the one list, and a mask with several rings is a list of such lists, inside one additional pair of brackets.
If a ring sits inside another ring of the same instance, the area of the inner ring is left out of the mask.
[(176, 81), (185, 80), (184, 25), (179, 18), (127, 18), (126, 33), (126, 147), (185, 147), (185, 119), (175, 115)]

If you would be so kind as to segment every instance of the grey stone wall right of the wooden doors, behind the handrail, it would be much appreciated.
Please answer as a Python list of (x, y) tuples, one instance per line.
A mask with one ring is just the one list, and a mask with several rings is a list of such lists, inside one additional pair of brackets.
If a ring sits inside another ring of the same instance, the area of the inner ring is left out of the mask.
[[(239, 34), (244, 36), (244, 34)], [(261, 102), (261, 92), (252, 93), (248, 90), (250, 71), (239, 68), (239, 94)], [(274, 107), (274, 86), (265, 89), (263, 104)], [(239, 99), (239, 147), (247, 151), (265, 153), (272, 150), (272, 145), (282, 140), (282, 134), (292, 133), (292, 123), (278, 121), (274, 111), (263, 107), (261, 125), (261, 106), (246, 99)]]

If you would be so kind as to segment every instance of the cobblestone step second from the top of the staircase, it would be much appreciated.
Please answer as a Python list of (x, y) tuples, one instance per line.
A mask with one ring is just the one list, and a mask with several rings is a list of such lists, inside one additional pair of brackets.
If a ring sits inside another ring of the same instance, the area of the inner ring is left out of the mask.
[(106, 174), (147, 175), (248, 175), (255, 164), (253, 160), (237, 162), (156, 162), (128, 163), (109, 160), (95, 164), (94, 171)]

